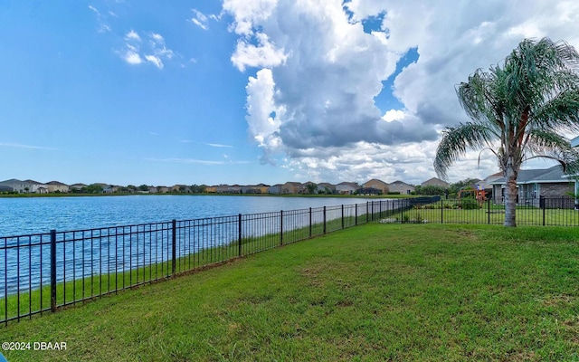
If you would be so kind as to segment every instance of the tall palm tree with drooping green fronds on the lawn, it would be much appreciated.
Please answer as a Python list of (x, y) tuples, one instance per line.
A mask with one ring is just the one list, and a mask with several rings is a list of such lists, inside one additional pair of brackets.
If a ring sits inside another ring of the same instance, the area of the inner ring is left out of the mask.
[[(442, 131), (434, 169), (441, 176), (467, 150), (489, 149), (507, 180), (505, 226), (516, 226), (517, 176), (531, 158), (576, 169), (565, 132), (579, 131), (579, 54), (562, 41), (523, 40), (503, 67), (475, 71), (457, 87), (470, 122)], [(480, 156), (479, 156), (480, 159)]]

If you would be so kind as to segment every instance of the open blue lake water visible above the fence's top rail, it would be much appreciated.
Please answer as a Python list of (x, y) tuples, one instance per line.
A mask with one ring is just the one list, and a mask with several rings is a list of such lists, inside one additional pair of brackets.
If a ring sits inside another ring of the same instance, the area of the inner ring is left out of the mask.
[(364, 198), (235, 195), (127, 195), (0, 198), (0, 237), (129, 224), (259, 214), (334, 205)]

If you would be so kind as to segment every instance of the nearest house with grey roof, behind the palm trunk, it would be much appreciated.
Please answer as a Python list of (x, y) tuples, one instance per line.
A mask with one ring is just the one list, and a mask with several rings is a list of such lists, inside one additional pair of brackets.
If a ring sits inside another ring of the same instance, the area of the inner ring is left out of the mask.
[[(522, 169), (517, 177), (517, 204), (540, 205), (540, 197), (569, 197), (574, 192), (574, 182), (559, 165), (546, 169)], [(489, 182), (493, 186), (493, 201), (504, 202), (506, 179), (497, 177)]]

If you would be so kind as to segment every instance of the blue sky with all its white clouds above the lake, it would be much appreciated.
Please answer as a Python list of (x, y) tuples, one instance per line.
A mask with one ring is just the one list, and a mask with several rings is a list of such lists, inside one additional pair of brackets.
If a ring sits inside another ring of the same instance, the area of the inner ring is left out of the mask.
[[(547, 11), (548, 10), (548, 11)], [(525, 37), (579, 44), (533, 2), (0, 1), (0, 179), (413, 184), (454, 85)], [(470, 155), (450, 181), (497, 171)]]

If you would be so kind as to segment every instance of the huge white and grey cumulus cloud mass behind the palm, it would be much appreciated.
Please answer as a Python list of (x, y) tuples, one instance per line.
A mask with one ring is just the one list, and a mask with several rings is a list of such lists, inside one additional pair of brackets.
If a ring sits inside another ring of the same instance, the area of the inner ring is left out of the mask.
[[(579, 45), (573, 1), (224, 0), (223, 12), (238, 35), (232, 63), (251, 73), (246, 120), (264, 162), (327, 181), (435, 176), (441, 129), (467, 120), (460, 81), (525, 37)], [(396, 72), (412, 49), (418, 60)], [(401, 108), (380, 109), (384, 92)], [(458, 162), (451, 179), (498, 170), (489, 156), (478, 168), (478, 157)]]

